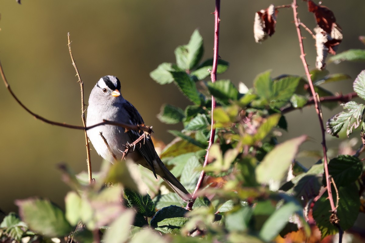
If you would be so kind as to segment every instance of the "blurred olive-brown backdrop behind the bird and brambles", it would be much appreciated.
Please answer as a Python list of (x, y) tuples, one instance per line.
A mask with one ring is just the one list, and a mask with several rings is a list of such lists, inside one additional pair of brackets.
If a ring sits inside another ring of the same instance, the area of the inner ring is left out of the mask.
[[(272, 76), (304, 75), (291, 9), (280, 9), (276, 34), (262, 44), (253, 38), (254, 13), (270, 1), (222, 1), (219, 54), (230, 62), (228, 71), (218, 78), (244, 82), (252, 87), (255, 76), (272, 69)], [(290, 1), (274, 1), (275, 5)], [(312, 13), (299, 1), (299, 17), (311, 29)], [(363, 0), (323, 1), (343, 28), (339, 52), (364, 48), (358, 41), (365, 35)], [(212, 56), (214, 1), (48, 1), (15, 0), (0, 2), (0, 58), (8, 81), (20, 100), (32, 111), (54, 121), (81, 125), (80, 86), (67, 47), (70, 32), (72, 51), (85, 98), (104, 75), (116, 75), (122, 94), (134, 104), (156, 138), (168, 143), (168, 129), (156, 117), (163, 103), (185, 107), (187, 99), (173, 84), (155, 83), (149, 72), (162, 62), (174, 62), (174, 49), (186, 44), (198, 28), (204, 38), (204, 58)], [(314, 40), (307, 33), (304, 45), (308, 63), (314, 68)], [(353, 79), (364, 68), (362, 63), (328, 64), (331, 73), (345, 72)], [(333, 92), (352, 91), (353, 79), (325, 85)], [(323, 109), (326, 121), (335, 112)], [(69, 164), (74, 171), (87, 169), (84, 134), (51, 126), (31, 117), (0, 87), (0, 208), (18, 211), (15, 199), (42, 196), (63, 206), (69, 188), (61, 181), (56, 165)], [(285, 138), (308, 134), (306, 146), (321, 149), (320, 130), (313, 107), (287, 115), (289, 133)], [(333, 141), (333, 140), (331, 140)], [(329, 142), (329, 146), (338, 142)], [(101, 162), (92, 152), (93, 170)], [(315, 162), (314, 160), (312, 162)]]

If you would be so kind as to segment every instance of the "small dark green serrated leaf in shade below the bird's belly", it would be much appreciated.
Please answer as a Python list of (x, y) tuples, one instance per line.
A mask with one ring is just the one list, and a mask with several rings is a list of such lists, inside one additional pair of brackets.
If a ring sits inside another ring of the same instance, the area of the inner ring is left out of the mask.
[(143, 216), (151, 217), (155, 214), (155, 205), (150, 195), (140, 195), (129, 188), (124, 188), (124, 197), (128, 202), (128, 207), (136, 207)]

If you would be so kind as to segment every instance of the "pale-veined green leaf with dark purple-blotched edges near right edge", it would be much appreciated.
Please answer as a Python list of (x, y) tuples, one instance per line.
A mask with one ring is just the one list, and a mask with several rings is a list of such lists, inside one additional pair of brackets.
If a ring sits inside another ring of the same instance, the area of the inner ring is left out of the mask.
[(327, 133), (338, 137), (338, 133), (342, 130), (342, 128), (347, 126), (346, 135), (348, 137), (353, 132), (353, 129), (360, 126), (365, 106), (354, 101), (349, 101), (346, 104), (341, 105), (343, 106), (343, 109), (347, 110), (347, 112), (341, 111), (328, 119)]

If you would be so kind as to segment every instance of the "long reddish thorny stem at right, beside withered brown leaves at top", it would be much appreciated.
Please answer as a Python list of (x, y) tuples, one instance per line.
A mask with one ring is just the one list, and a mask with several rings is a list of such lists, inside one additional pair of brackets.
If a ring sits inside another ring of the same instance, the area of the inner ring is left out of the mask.
[(315, 109), (316, 109), (316, 112), (317, 112), (317, 115), (318, 115), (318, 120), (319, 120), (321, 133), (322, 133), (324, 174), (325, 174), (325, 177), (326, 177), (328, 199), (330, 200), (330, 205), (331, 205), (332, 212), (334, 214), (336, 214), (336, 207), (335, 207), (335, 204), (333, 202), (333, 197), (332, 197), (332, 192), (331, 192), (330, 175), (328, 173), (327, 146), (326, 146), (326, 137), (325, 137), (325, 132), (324, 132), (325, 130), (324, 130), (324, 125), (323, 125), (322, 112), (320, 110), (319, 99), (317, 98), (318, 96), (317, 96), (317, 94), (314, 90), (314, 85), (313, 85), (313, 82), (312, 82), (311, 74), (309, 72), (309, 68), (308, 68), (308, 64), (307, 64), (307, 60), (306, 60), (306, 54), (304, 52), (303, 37), (301, 35), (301, 30), (300, 30), (300, 23), (299, 23), (299, 19), (298, 19), (297, 1), (296, 0), (293, 0), (292, 8), (293, 8), (295, 27), (296, 27), (297, 35), (298, 35), (298, 39), (299, 39), (300, 59), (302, 60), (304, 70), (306, 71), (307, 79), (308, 79), (308, 82), (309, 82), (310, 90), (311, 90), (313, 101), (314, 101), (314, 106), (315, 106)]

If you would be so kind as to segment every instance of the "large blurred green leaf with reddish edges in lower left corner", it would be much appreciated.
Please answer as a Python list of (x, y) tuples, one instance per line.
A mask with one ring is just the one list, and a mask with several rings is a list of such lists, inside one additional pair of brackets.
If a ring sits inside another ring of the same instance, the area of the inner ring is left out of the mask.
[(49, 200), (37, 198), (16, 200), (19, 214), (30, 229), (49, 237), (63, 237), (73, 230), (64, 212)]

